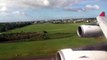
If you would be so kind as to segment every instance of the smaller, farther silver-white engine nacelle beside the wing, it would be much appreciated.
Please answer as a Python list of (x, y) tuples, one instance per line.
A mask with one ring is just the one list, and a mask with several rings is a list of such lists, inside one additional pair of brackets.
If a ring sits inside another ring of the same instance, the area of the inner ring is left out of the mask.
[(98, 25), (81, 25), (77, 29), (79, 37), (99, 37), (103, 33)]

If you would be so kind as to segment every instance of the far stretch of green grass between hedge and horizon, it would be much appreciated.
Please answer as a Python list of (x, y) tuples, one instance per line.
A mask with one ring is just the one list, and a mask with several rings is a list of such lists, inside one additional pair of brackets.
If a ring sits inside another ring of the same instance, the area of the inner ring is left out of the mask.
[[(74, 32), (76, 26), (79, 24), (34, 24), (30, 26), (26, 26), (24, 28), (18, 28), (15, 30), (8, 31), (9, 33), (14, 32), (41, 32), (41, 31), (48, 31), (50, 33), (62, 33), (62, 32)], [(7, 32), (6, 32), (7, 33)]]

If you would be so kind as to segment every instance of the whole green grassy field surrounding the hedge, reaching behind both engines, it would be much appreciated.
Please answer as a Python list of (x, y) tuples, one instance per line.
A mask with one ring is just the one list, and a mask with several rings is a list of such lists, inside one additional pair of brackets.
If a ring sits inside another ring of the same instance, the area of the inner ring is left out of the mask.
[(15, 32), (47, 31), (50, 39), (43, 41), (23, 41), (0, 43), (0, 59), (27, 56), (54, 55), (62, 48), (77, 48), (105, 42), (104, 38), (80, 38), (76, 35), (77, 24), (34, 24), (23, 28), (10, 30)]

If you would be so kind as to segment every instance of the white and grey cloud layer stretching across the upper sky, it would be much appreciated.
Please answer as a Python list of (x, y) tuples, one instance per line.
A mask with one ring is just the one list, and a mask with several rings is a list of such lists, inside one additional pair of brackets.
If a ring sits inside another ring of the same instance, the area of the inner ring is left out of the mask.
[[(0, 14), (4, 15), (26, 15), (17, 9), (26, 8), (62, 8), (66, 11), (88, 11), (98, 10), (98, 5), (86, 5), (83, 8), (66, 8), (85, 0), (0, 0)], [(15, 10), (16, 9), (16, 10)]]

